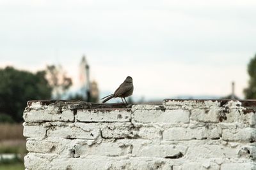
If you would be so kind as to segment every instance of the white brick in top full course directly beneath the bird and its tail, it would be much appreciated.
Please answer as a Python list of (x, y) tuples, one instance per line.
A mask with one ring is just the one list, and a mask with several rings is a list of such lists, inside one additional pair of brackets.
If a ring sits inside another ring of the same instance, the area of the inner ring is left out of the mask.
[(77, 110), (80, 122), (130, 122), (131, 111), (127, 110)]

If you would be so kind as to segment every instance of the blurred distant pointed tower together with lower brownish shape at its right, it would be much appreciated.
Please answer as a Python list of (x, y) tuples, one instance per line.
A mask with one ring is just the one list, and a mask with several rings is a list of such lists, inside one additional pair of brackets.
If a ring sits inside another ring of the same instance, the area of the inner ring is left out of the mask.
[(99, 89), (96, 81), (90, 82), (90, 66), (83, 55), (79, 64), (79, 95), (88, 102), (99, 101)]

